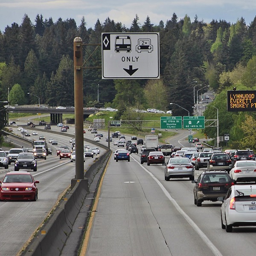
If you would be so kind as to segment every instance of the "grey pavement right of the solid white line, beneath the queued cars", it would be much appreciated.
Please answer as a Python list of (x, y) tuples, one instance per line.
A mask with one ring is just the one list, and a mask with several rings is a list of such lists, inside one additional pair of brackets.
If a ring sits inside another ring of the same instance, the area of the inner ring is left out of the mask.
[[(221, 229), (220, 207), (221, 202), (204, 201), (202, 207), (194, 204), (193, 188), (194, 184), (188, 178), (164, 180), (162, 166), (145, 166), (159, 180), (169, 195), (177, 202), (186, 215), (191, 218), (195, 227), (201, 230), (201, 236), (208, 240), (207, 244), (217, 247), (222, 255), (229, 255), (230, 244), (232, 244), (232, 255), (252, 255), (256, 250), (254, 243), (255, 227), (234, 228), (232, 236), (229, 236), (225, 230)], [(195, 179), (204, 169), (195, 171)], [(187, 218), (185, 218), (186, 221)], [(244, 235), (246, 233), (246, 236)], [(198, 233), (194, 231), (194, 235)], [(236, 241), (236, 243), (234, 243)], [(201, 244), (200, 247), (205, 245)], [(194, 255), (194, 254), (193, 254)]]

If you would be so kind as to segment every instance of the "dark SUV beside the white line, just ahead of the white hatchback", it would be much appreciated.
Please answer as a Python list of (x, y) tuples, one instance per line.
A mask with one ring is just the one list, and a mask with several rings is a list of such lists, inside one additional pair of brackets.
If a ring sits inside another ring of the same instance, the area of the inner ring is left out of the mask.
[(194, 204), (202, 206), (203, 201), (218, 201), (218, 197), (225, 197), (230, 186), (234, 185), (233, 180), (226, 171), (204, 171), (199, 175), (198, 180), (192, 180), (194, 187)]

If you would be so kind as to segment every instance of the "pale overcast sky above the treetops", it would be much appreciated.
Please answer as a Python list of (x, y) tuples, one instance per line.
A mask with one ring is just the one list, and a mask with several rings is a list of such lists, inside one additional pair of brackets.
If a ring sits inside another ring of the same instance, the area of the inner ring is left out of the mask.
[(250, 25), (256, 16), (256, 0), (0, 0), (0, 30), (4, 32), (14, 22), (20, 25), (25, 14), (33, 24), (39, 14), (44, 20), (52, 17), (53, 22), (73, 18), (77, 26), (84, 16), (88, 29), (107, 17), (130, 28), (136, 14), (141, 25), (147, 16), (154, 25), (160, 20), (166, 24), (174, 12), (178, 20), (187, 14), (191, 21), (197, 15), (206, 23), (212, 19), (236, 23), (243, 17)]

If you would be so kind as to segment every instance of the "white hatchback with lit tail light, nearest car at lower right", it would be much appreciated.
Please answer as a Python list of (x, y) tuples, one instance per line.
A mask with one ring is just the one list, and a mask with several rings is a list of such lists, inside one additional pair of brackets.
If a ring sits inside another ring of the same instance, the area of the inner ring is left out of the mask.
[[(240, 161), (239, 161), (240, 162)], [(256, 185), (233, 185), (221, 205), (221, 228), (232, 232), (233, 227), (256, 226)]]

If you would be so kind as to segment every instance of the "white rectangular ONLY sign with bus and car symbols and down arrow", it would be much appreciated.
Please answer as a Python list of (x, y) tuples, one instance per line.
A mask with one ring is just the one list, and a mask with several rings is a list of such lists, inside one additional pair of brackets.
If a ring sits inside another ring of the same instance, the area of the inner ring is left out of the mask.
[(159, 33), (102, 33), (102, 79), (159, 79)]

